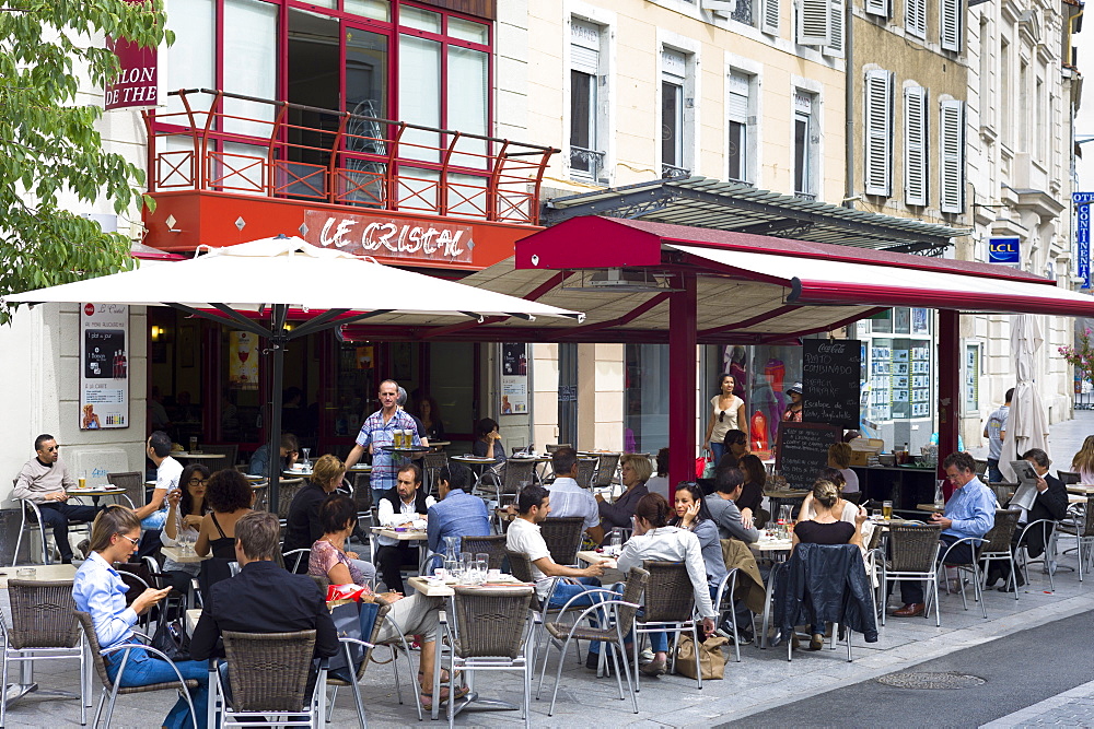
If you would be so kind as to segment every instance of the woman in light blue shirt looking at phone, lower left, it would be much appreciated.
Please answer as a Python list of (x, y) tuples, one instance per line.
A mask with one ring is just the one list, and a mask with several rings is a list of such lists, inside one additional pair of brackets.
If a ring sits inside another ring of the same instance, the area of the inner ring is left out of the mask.
[[(127, 508), (113, 506), (101, 512), (95, 517), (91, 529), (91, 555), (80, 566), (72, 583), (72, 599), (75, 609), (91, 614), (95, 626), (95, 636), (101, 648), (112, 648), (126, 643), (137, 643), (133, 636), (133, 624), (137, 616), (167, 597), (171, 588), (162, 590), (144, 590), (126, 607), (126, 592), (129, 590), (114, 563), (128, 562), (140, 543), (140, 518)], [(177, 681), (178, 678), (171, 666), (142, 648), (133, 648), (126, 662), (126, 671), (118, 677), (124, 650), (106, 654), (106, 672), (112, 681), (117, 681), (124, 687), (147, 686), (155, 683)], [(185, 660), (175, 663), (184, 679), (198, 682), (198, 687), (190, 691), (194, 709), (197, 712), (197, 725), (206, 727), (206, 704), (208, 701), (209, 666), (207, 661)], [(179, 697), (163, 726), (168, 729), (181, 729), (191, 725), (189, 706), (186, 699)]]

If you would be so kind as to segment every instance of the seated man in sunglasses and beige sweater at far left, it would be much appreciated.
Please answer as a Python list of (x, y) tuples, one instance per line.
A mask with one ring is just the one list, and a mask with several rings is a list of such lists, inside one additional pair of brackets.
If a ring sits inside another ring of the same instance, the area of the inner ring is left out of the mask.
[(58, 455), (57, 439), (49, 434), (42, 434), (34, 439), (35, 458), (23, 465), (15, 480), (13, 498), (25, 498), (34, 502), (42, 513), (44, 526), (53, 527), (54, 540), (61, 553), (61, 562), (72, 562), (72, 545), (68, 541), (70, 521), (92, 521), (95, 518), (94, 506), (80, 506), (68, 503), (68, 489), (75, 486), (75, 479), (68, 472)]

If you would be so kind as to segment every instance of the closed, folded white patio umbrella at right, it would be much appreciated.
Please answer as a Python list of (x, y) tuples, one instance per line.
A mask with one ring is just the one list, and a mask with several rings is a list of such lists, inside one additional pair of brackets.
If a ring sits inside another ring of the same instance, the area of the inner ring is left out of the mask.
[(1014, 352), (1014, 373), (1017, 385), (1011, 399), (1011, 413), (1006, 416), (1006, 436), (999, 456), (999, 470), (1010, 482), (1016, 481), (1011, 461), (1031, 448), (1048, 452), (1048, 418), (1040, 392), (1034, 383), (1034, 354), (1044, 344), (1037, 318), (1020, 314), (1011, 318), (1011, 350)]

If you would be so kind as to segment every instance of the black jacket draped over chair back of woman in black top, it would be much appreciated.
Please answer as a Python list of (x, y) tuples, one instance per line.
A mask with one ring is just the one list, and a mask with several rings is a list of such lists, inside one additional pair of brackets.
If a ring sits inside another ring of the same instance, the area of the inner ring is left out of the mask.
[(799, 544), (778, 571), (775, 624), (783, 635), (795, 625), (839, 623), (875, 643), (873, 613), (873, 590), (854, 544)]

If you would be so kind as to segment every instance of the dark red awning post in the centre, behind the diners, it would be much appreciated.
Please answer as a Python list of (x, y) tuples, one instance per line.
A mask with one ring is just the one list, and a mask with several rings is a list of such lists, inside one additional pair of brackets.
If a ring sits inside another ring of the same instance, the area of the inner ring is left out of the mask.
[(668, 301), (668, 498), (680, 481), (695, 480), (696, 449), (696, 277), (680, 275), (682, 291)]

